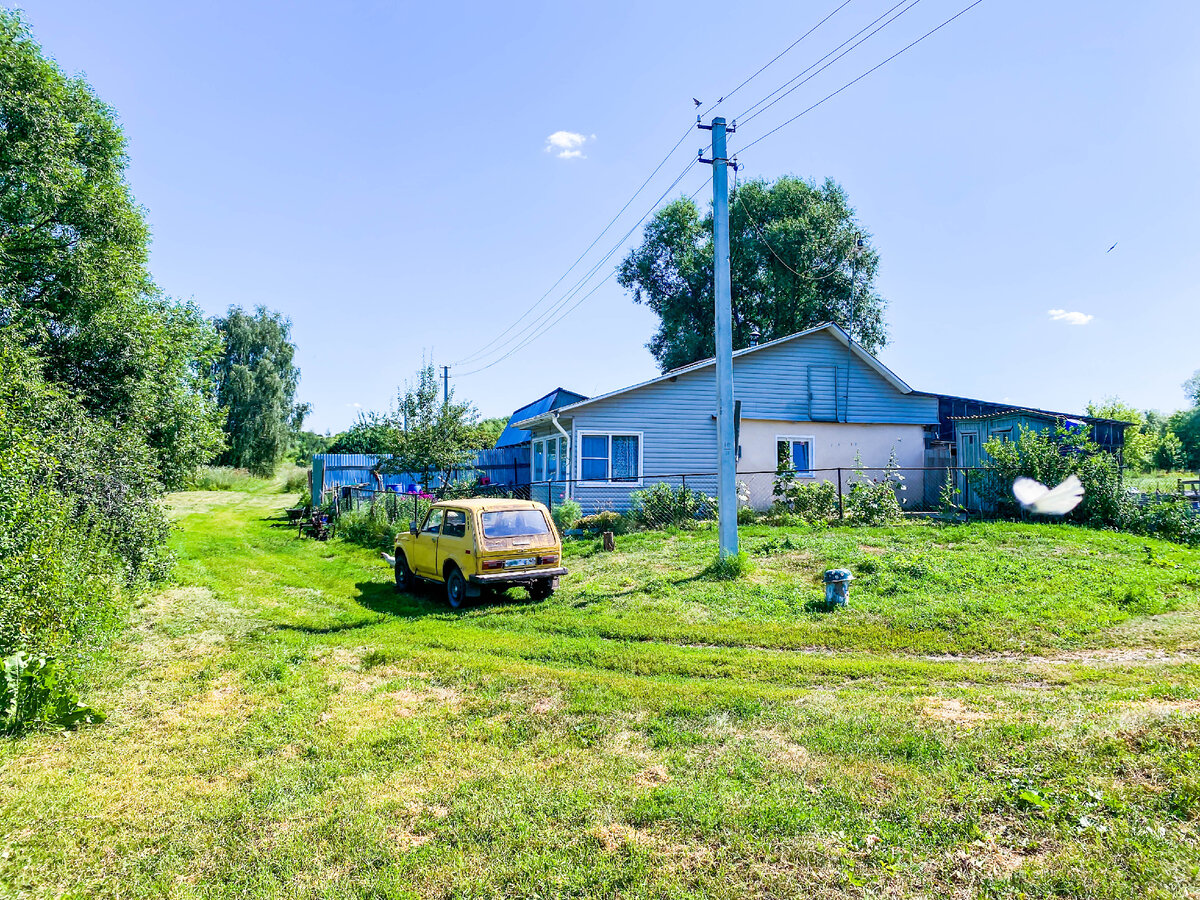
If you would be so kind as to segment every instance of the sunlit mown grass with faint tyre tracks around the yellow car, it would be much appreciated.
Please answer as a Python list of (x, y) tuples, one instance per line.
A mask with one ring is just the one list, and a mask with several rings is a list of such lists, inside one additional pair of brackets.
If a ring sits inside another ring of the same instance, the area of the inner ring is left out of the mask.
[(172, 503), (108, 722), (0, 744), (0, 898), (1200, 898), (1200, 551), (644, 534), (455, 613), (278, 494)]

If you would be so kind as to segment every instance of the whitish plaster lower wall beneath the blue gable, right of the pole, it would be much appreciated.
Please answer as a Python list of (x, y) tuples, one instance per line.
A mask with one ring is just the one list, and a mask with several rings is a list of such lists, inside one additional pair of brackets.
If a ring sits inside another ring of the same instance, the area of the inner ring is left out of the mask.
[[(817, 481), (836, 481), (836, 472), (820, 472), (841, 467), (842, 484), (848, 485), (850, 469), (856, 454), (862, 455), (866, 473), (878, 478), (877, 469), (888, 463), (892, 449), (901, 468), (920, 469), (925, 464), (925, 430), (920, 425), (859, 425), (854, 422), (796, 422), (763, 419), (743, 419), (740, 432), (742, 457), (738, 460), (739, 480), (750, 492), (751, 505), (770, 505), (774, 479), (749, 473), (774, 473), (778, 464), (775, 442), (779, 437), (811, 437), (812, 468)], [(924, 494), (920, 472), (904, 472), (906, 490), (901, 502), (919, 503)], [(745, 475), (745, 478), (742, 478)]]

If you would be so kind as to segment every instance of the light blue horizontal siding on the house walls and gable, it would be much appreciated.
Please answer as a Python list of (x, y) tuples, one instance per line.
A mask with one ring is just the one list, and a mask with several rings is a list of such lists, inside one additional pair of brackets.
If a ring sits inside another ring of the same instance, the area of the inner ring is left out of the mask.
[[(850, 364), (848, 415), (846, 368)], [(814, 378), (810, 366), (824, 367)], [(833, 371), (830, 371), (833, 370)], [(829, 376), (833, 376), (830, 378)], [(828, 331), (764, 347), (733, 359), (734, 396), (744, 419), (934, 425), (937, 398), (904, 394)], [(822, 384), (836, 383), (835, 403), (817, 396)], [(625, 394), (564, 410), (564, 427), (574, 430), (572, 474), (578, 476), (580, 431), (642, 432), (642, 472), (653, 475), (707, 473), (716, 469), (715, 370), (706, 366), (674, 380), (660, 380)], [(833, 410), (830, 413), (830, 410)], [(816, 418), (814, 418), (814, 413)], [(550, 433), (542, 426), (535, 437)], [(691, 482), (689, 480), (689, 486)], [(701, 486), (697, 484), (697, 488)], [(628, 504), (637, 486), (575, 486), (586, 508)], [(703, 490), (703, 488), (701, 488)]]

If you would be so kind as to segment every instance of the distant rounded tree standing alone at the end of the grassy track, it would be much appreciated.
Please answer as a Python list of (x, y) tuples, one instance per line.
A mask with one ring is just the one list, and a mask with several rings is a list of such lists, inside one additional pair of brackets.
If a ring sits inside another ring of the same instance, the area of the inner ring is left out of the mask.
[(292, 323), (263, 306), (253, 314), (230, 306), (216, 328), (223, 349), (212, 382), (227, 443), (218, 462), (270, 475), (307, 412), (293, 402), (300, 370), (293, 364)]

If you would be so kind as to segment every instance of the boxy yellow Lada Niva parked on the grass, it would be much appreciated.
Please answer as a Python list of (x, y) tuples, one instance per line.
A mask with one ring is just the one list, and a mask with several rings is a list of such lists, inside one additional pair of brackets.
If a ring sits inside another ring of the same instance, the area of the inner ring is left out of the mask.
[(482, 588), (521, 586), (534, 600), (558, 587), (563, 547), (550, 512), (532, 500), (475, 498), (434, 503), (396, 536), (396, 589), (445, 586), (457, 610)]

